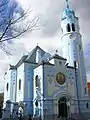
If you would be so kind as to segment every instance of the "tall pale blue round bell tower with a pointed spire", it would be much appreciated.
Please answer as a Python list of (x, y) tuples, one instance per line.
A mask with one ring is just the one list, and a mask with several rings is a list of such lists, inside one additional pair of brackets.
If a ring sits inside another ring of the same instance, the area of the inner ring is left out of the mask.
[(69, 66), (77, 68), (77, 82), (79, 96), (87, 96), (87, 79), (84, 65), (84, 55), (82, 47), (82, 36), (79, 29), (79, 19), (74, 10), (69, 7), (66, 0), (66, 9), (61, 18), (61, 41), (63, 46), (63, 57), (67, 59)]

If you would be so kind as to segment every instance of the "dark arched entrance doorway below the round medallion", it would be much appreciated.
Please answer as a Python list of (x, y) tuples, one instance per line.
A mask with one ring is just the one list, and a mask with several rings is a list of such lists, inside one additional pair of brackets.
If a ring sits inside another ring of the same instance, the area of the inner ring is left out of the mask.
[(68, 109), (66, 103), (66, 97), (62, 97), (58, 101), (58, 115), (59, 117), (67, 118), (68, 117)]

